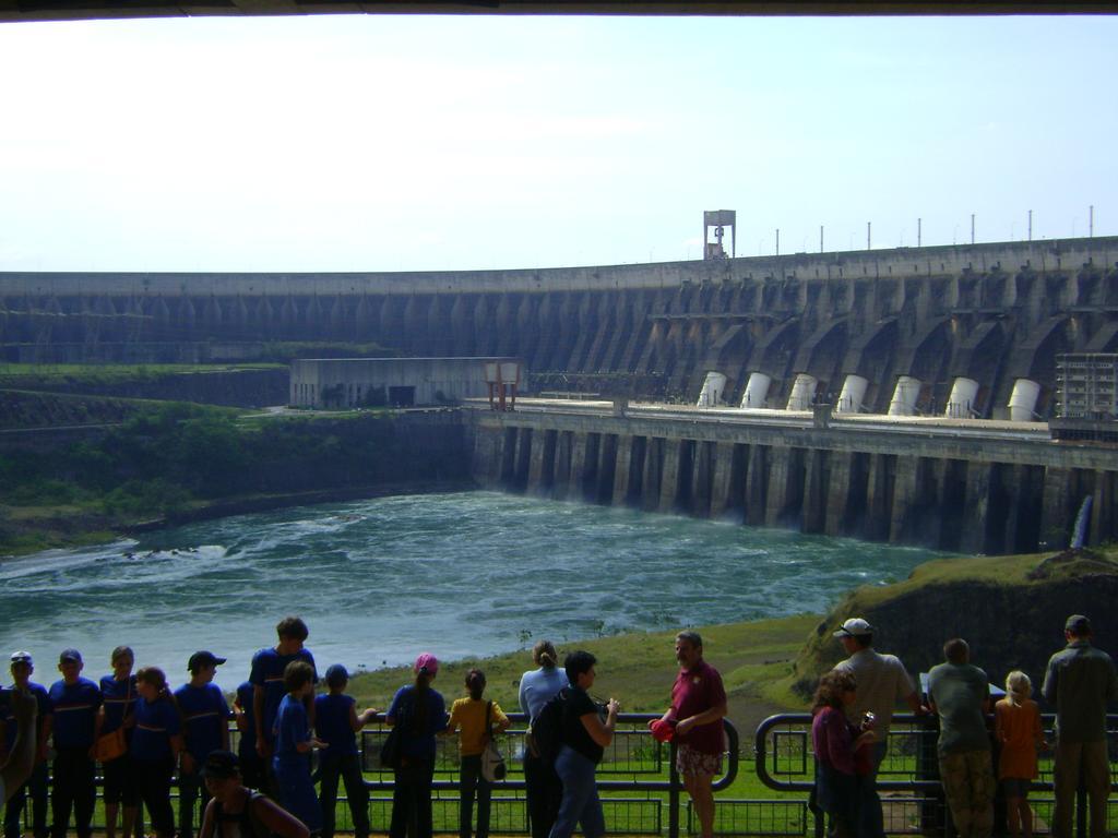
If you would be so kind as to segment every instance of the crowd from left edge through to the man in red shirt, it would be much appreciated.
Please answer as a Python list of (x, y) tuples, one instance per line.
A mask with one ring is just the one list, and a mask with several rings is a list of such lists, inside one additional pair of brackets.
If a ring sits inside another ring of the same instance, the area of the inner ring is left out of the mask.
[[(91, 838), (96, 802), (96, 763), (101, 763), (105, 832), (133, 835), (142, 803), (155, 838), (333, 838), (338, 785), (345, 784), (354, 838), (368, 838), (368, 789), (357, 733), (377, 717), (358, 711), (345, 695), (349, 673), (339, 664), (319, 682), (314, 657), (305, 648), (306, 625), (288, 617), (276, 626), (277, 642), (253, 657), (248, 680), (230, 707), (214, 684), (226, 659), (208, 650), (190, 656), (189, 680), (172, 691), (165, 673), (146, 666), (133, 673), (135, 655), (113, 650), (112, 672), (95, 683), (82, 675), (77, 649), (58, 657), (61, 678), (49, 688), (31, 680), (35, 661), (26, 651), (11, 656), (13, 684), (3, 692), (0, 715), (0, 801), (4, 838), (21, 838), (30, 800), (35, 838), (66, 838), (73, 822), (77, 838)], [(675, 641), (681, 665), (672, 706), (650, 726), (661, 741), (674, 740), (678, 768), (699, 811), (704, 838), (713, 834), (711, 782), (721, 771), (724, 750), (721, 720), (726, 693), (718, 672), (702, 659), (702, 640), (681, 632)], [(519, 701), (542, 742), (541, 718), (558, 715), (556, 747), (525, 753), (524, 779), (533, 838), (568, 838), (581, 826), (588, 838), (605, 835), (595, 771), (613, 739), (620, 706), (590, 694), (597, 660), (587, 651), (566, 656), (560, 668), (555, 646), (533, 649), (537, 668), (520, 680)], [(459, 837), (487, 838), (493, 778), (485, 752), (493, 736), (510, 725), (495, 702), (485, 699), (485, 674), (471, 669), (465, 696), (449, 712), (433, 683), (438, 660), (416, 658), (414, 682), (401, 686), (385, 712), (397, 749), (390, 838), (429, 838), (436, 737), (457, 735), (459, 750)], [(240, 733), (229, 750), (229, 720)], [(51, 820), (48, 823), (48, 745)], [(319, 790), (310, 754), (319, 753)], [(385, 754), (382, 754), (382, 759)], [(176, 821), (171, 788), (179, 784)], [(474, 807), (476, 803), (476, 826)]]

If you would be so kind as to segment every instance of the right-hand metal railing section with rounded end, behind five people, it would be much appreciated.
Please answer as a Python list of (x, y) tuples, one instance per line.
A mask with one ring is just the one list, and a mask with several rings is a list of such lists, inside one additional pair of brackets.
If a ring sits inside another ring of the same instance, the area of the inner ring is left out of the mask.
[[(1052, 735), (1052, 715), (1042, 716), (1049, 741)], [(812, 753), (812, 715), (807, 713), (781, 713), (769, 716), (757, 727), (754, 739), (755, 771), (757, 778), (769, 789), (780, 792), (804, 794), (804, 804), (814, 816), (814, 834), (822, 838), (826, 816), (808, 804), (815, 781), (815, 758)], [(939, 764), (936, 740), (939, 726), (935, 716), (897, 714), (889, 733), (889, 751), (878, 773), (878, 790), (881, 792), (882, 810), (885, 816), (885, 832), (889, 835), (954, 835), (950, 812), (946, 806), (942, 785), (939, 782)], [(1111, 773), (1118, 754), (1118, 716), (1107, 716), (1107, 742), (1109, 746)], [(996, 743), (993, 743), (996, 747)], [(996, 750), (992, 759), (996, 758)], [(1031, 789), (1041, 796), (1030, 796), (1033, 808), (1035, 834), (1050, 832), (1052, 799), (1052, 752), (1042, 752), (1039, 759), (1040, 777)], [(720, 801), (721, 802), (721, 801)], [(1001, 788), (995, 799), (995, 835), (1004, 826), (1004, 801)], [(1118, 825), (1118, 801), (1110, 801), (1107, 809), (1107, 825)], [(1004, 832), (1004, 829), (1001, 830)], [(1079, 789), (1076, 800), (1076, 835), (1087, 838), (1087, 796)]]

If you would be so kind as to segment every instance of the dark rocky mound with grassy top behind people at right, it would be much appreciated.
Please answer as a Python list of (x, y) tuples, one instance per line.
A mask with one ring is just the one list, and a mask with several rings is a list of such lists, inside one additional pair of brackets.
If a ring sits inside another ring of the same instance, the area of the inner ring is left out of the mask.
[[(982, 563), (982, 573), (968, 579), (967, 562)], [(898, 655), (913, 676), (942, 661), (946, 640), (961, 637), (970, 645), (972, 663), (992, 683), (1004, 685), (1010, 672), (1022, 669), (1039, 692), (1049, 657), (1064, 645), (1063, 625), (1071, 613), (1090, 617), (1096, 645), (1118, 655), (1118, 562), (1069, 551), (1031, 568), (1006, 561), (1001, 574), (993, 562), (961, 559), (950, 563), (954, 575), (932, 571), (922, 580), (918, 569), (898, 585), (849, 594), (797, 658), (796, 692), (809, 694), (819, 673), (845, 657), (832, 632), (847, 617), (869, 620), (878, 629), (874, 648)]]

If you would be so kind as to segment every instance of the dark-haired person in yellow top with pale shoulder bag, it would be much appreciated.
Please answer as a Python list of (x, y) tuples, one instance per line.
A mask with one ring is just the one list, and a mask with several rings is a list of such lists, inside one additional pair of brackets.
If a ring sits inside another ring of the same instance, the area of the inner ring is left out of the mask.
[(461, 808), (458, 820), (459, 838), (470, 838), (470, 822), (474, 809), (474, 792), (477, 792), (477, 838), (489, 838), (490, 792), (492, 784), (482, 777), (482, 754), (489, 745), (491, 731), (486, 730), (485, 715), (489, 711), (490, 727), (498, 732), (508, 730), (509, 717), (496, 702), (482, 701), (485, 692), (485, 673), (471, 669), (466, 673), (468, 698), (458, 698), (451, 707), (451, 721), (446, 733), (459, 731), (458, 751), (462, 755), (462, 773), (458, 778)]

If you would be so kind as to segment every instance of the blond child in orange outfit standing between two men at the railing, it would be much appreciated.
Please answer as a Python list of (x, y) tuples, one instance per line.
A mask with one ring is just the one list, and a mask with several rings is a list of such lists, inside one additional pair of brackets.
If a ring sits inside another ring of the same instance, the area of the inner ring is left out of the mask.
[(1005, 678), (1005, 698), (994, 705), (994, 734), (1002, 743), (997, 777), (1005, 794), (1005, 815), (1013, 838), (1031, 838), (1033, 811), (1029, 787), (1036, 777), (1036, 749), (1048, 747), (1041, 713), (1029, 695), (1032, 682), (1022, 672)]

